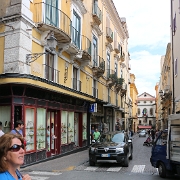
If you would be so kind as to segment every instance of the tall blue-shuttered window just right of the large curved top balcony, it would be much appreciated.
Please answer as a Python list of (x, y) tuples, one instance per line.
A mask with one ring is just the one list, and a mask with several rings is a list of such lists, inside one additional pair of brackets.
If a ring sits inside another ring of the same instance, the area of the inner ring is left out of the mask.
[(73, 26), (72, 41), (80, 49), (81, 18), (74, 10), (73, 10), (72, 26)]

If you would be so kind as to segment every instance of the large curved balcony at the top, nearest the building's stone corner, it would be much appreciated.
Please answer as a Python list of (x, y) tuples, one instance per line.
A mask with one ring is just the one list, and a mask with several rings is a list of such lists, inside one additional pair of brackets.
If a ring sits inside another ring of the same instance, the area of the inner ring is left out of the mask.
[[(58, 45), (71, 42), (71, 19), (60, 9), (44, 2), (35, 3), (34, 22), (38, 30), (48, 36), (49, 31), (54, 33)], [(45, 39), (43, 39), (44, 41)]]

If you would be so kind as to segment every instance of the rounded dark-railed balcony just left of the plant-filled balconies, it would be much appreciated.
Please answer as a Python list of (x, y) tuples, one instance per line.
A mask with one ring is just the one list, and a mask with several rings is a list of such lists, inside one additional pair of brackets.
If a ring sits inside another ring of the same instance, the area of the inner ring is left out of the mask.
[(103, 76), (105, 71), (105, 61), (102, 57), (96, 56), (93, 59), (93, 67), (92, 67), (93, 75), (97, 78), (100, 78)]

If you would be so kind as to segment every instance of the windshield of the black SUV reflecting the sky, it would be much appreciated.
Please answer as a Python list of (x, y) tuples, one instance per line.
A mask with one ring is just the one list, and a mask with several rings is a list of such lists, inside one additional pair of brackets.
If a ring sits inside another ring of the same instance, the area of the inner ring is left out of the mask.
[(124, 142), (124, 133), (118, 134), (102, 134), (100, 138), (100, 142)]

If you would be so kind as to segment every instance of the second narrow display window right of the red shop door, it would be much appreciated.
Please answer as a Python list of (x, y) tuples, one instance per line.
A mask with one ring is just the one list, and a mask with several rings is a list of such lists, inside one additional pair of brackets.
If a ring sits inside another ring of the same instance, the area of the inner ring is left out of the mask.
[(74, 112), (69, 112), (68, 117), (68, 144), (70, 144), (74, 142)]

